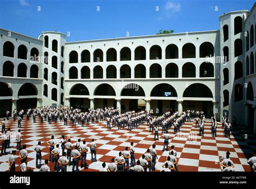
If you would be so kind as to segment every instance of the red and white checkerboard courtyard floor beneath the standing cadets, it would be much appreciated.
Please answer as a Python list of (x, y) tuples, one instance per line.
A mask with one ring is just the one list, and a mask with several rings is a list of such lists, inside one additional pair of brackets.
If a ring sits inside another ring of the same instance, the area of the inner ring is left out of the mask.
[[(6, 121), (6, 129), (11, 128), (12, 133), (17, 133), (17, 121)], [(206, 120), (205, 136), (199, 136), (199, 129), (195, 128), (194, 122), (186, 122), (180, 132), (173, 134), (173, 127), (169, 130), (171, 136), (169, 150), (171, 145), (175, 145), (178, 159), (179, 171), (221, 171), (219, 159), (224, 156), (226, 151), (231, 152), (231, 160), (235, 164), (236, 171), (250, 171), (250, 166), (247, 164), (248, 158), (256, 152), (256, 137), (254, 134), (248, 133), (247, 130), (233, 131), (231, 137), (224, 136), (223, 129), (217, 129), (217, 137), (211, 135), (211, 123)], [(219, 124), (220, 125), (220, 124)], [(106, 122), (99, 122), (95, 124), (85, 125), (64, 125), (63, 122), (52, 123), (47, 122), (41, 124), (37, 118), (37, 123), (32, 123), (32, 119), (23, 120), (22, 122), (22, 145), (26, 144), (28, 150), (28, 169), (38, 171), (36, 168), (36, 156), (34, 146), (38, 141), (41, 141), (42, 163), (49, 158), (49, 145), (46, 143), (54, 135), (56, 141), (60, 143), (62, 134), (66, 138), (70, 138), (73, 144), (77, 139), (86, 140), (87, 146), (92, 138), (97, 144), (97, 161), (91, 161), (90, 150), (87, 153), (86, 163), (89, 168), (80, 168), (80, 171), (99, 171), (102, 163), (105, 161), (106, 165), (111, 162), (112, 157), (118, 156), (119, 151), (124, 151), (125, 146), (130, 146), (134, 142), (134, 150), (136, 151), (136, 160), (142, 157), (142, 154), (152, 145), (156, 144), (158, 160), (156, 163), (156, 171), (161, 171), (166, 157), (169, 152), (162, 151), (163, 137), (161, 137), (161, 130), (159, 132), (159, 141), (154, 140), (154, 134), (149, 132), (149, 127), (143, 124), (132, 131), (125, 127), (118, 130), (117, 127), (107, 129)], [(244, 134), (247, 138), (244, 138)], [(2, 133), (1, 133), (2, 134)], [(11, 149), (7, 152), (15, 150), (15, 139), (11, 140)], [(61, 151), (61, 150), (60, 150)], [(62, 154), (62, 153), (60, 153)], [(8, 170), (9, 154), (0, 157), (0, 171)], [(16, 171), (20, 171), (19, 165), (21, 160), (16, 156)], [(49, 163), (51, 171), (54, 170), (53, 163)], [(68, 166), (68, 171), (72, 171), (72, 166)]]

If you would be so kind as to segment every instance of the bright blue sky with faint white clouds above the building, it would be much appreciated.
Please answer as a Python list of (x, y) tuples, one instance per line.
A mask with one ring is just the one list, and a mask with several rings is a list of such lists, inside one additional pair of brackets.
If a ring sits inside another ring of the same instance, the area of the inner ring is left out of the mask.
[(35, 38), (42, 31), (70, 32), (68, 42), (126, 37), (127, 32), (130, 36), (143, 36), (159, 30), (176, 33), (218, 30), (220, 15), (250, 10), (253, 3), (253, 0), (0, 0), (0, 28)]

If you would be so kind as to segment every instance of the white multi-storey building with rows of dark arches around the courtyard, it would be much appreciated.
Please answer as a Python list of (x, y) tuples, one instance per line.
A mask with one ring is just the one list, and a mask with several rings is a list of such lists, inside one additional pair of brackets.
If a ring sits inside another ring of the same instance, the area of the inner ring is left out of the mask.
[(255, 6), (221, 15), (214, 31), (66, 42), (0, 29), (1, 116), (52, 104), (190, 109), (256, 132)]

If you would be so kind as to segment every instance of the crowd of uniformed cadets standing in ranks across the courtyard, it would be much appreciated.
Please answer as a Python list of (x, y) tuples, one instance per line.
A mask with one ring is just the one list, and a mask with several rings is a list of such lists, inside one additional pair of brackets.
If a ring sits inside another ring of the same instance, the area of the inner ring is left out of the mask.
[[(14, 120), (18, 121), (18, 127), (21, 126), (21, 122), (24, 119), (23, 114), (26, 114), (26, 119), (29, 120), (31, 115), (33, 118), (33, 122), (36, 123), (36, 117), (39, 117), (41, 123), (48, 122), (51, 124), (52, 122), (60, 122), (64, 121), (64, 125), (68, 125), (68, 120), (72, 126), (76, 126), (77, 124), (80, 126), (89, 125), (90, 123), (98, 123), (99, 121), (106, 120), (107, 129), (111, 129), (113, 127), (118, 127), (118, 130), (122, 130), (127, 127), (127, 130), (133, 130), (139, 127), (142, 124), (147, 124), (149, 126), (149, 132), (154, 132), (154, 140), (159, 140), (159, 132), (163, 134), (164, 145), (163, 151), (169, 151), (169, 140), (171, 136), (169, 135), (169, 130), (173, 126), (173, 133), (176, 134), (180, 131), (181, 126), (185, 122), (191, 122), (193, 119), (196, 122), (196, 127), (199, 128), (199, 136), (204, 136), (204, 122), (205, 116), (204, 112), (201, 111), (184, 111), (179, 116), (178, 112), (166, 111), (161, 116), (153, 116), (153, 110), (147, 111), (128, 111), (122, 114), (119, 114), (118, 109), (114, 109), (113, 107), (105, 107), (105, 109), (89, 109), (87, 112), (82, 112), (79, 109), (73, 109), (72, 107), (42, 107), (37, 109), (28, 109), (26, 112), (24, 110), (13, 112)], [(9, 111), (6, 111), (6, 119), (9, 119)], [(214, 115), (211, 117), (212, 122), (212, 136), (217, 137), (217, 121)], [(233, 123), (236, 122), (236, 119), (233, 118)], [(226, 137), (230, 137), (230, 129), (231, 124), (228, 122), (228, 118), (223, 116), (223, 125), (222, 125)], [(5, 119), (2, 122), (2, 150), (1, 154), (7, 154), (6, 149), (10, 148), (10, 129), (5, 132)], [(21, 171), (28, 171), (27, 161), (28, 161), (28, 151), (26, 150), (26, 145), (21, 147), (21, 130), (18, 130), (16, 133), (16, 143), (17, 143), (17, 151), (19, 150), (19, 157), (21, 158)], [(78, 139), (75, 145), (71, 143), (70, 138), (66, 138), (62, 135), (60, 144), (57, 144), (55, 141), (55, 137), (52, 136), (49, 141), (47, 141), (49, 145), (49, 159), (44, 160), (44, 164), (42, 164), (42, 147), (41, 141), (35, 146), (36, 152), (36, 167), (39, 171), (50, 171), (50, 167), (48, 166), (49, 162), (53, 162), (54, 171), (67, 171), (68, 166), (72, 166), (72, 171), (79, 171), (79, 164), (81, 168), (88, 168), (89, 166), (86, 164), (86, 156), (87, 152), (91, 153), (91, 161), (97, 161), (97, 145), (94, 139), (91, 139), (89, 144), (89, 148), (86, 145), (86, 141), (81, 141)], [(177, 152), (174, 150), (175, 146), (172, 145), (169, 151), (169, 156), (166, 158), (166, 161), (163, 164), (162, 171), (178, 171), (177, 167)], [(62, 149), (62, 154), (60, 157), (60, 149)], [(11, 156), (9, 157), (9, 168), (10, 171), (15, 171), (15, 155), (17, 151), (12, 151)], [(156, 145), (152, 145), (145, 154), (143, 154), (142, 158), (136, 161), (133, 143), (130, 144), (130, 147), (124, 147), (123, 152), (119, 152), (116, 158), (111, 159), (111, 163), (107, 165), (104, 162), (102, 164), (102, 168), (100, 171), (154, 171), (156, 170), (156, 161), (157, 151)], [(221, 159), (221, 166), (223, 166), (223, 171), (235, 171), (232, 160), (230, 160), (230, 152), (227, 152), (226, 156), (223, 156)], [(256, 157), (250, 158), (248, 160), (248, 164), (251, 165), (252, 171), (255, 171), (256, 167)], [(130, 168), (129, 168), (130, 165)]]

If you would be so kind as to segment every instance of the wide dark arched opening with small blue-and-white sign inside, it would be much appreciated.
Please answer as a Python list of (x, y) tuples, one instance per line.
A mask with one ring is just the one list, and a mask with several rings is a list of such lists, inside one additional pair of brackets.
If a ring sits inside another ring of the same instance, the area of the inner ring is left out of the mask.
[(170, 84), (161, 83), (153, 87), (151, 97), (177, 97), (177, 92)]

